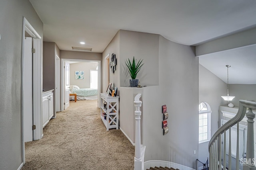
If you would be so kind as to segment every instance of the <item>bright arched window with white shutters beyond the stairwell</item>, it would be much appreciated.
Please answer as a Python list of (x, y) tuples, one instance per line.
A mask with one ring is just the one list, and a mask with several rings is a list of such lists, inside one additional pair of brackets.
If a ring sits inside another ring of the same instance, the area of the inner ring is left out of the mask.
[(199, 143), (211, 139), (211, 108), (208, 103), (199, 104)]

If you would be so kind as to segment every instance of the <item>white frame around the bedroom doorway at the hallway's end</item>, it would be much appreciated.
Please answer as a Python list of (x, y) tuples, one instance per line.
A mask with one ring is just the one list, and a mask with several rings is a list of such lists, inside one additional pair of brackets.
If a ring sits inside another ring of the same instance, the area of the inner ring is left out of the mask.
[[(79, 62), (98, 62), (98, 101), (101, 92), (101, 61), (100, 60), (83, 60), (83, 59), (61, 59), (61, 76), (60, 76), (60, 111), (64, 110), (64, 95), (65, 95), (65, 79), (64, 79), (64, 66), (66, 61), (79, 61)], [(100, 103), (98, 102), (98, 107)]]

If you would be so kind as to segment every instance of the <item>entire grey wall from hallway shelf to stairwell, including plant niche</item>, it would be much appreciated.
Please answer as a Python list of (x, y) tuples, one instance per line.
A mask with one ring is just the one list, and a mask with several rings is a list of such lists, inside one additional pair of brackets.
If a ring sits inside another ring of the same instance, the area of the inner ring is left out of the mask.
[[(111, 81), (129, 86), (125, 59), (134, 56), (144, 59), (138, 78), (141, 85), (147, 85), (143, 89), (120, 88), (120, 127), (124, 123), (127, 125), (128, 119), (122, 114), (134, 118), (134, 93), (142, 91), (145, 161), (166, 160), (195, 168), (198, 158), (198, 58), (195, 57), (195, 47), (180, 45), (156, 34), (120, 30), (106, 47), (103, 57), (118, 53), (118, 43), (120, 54), (116, 56), (121, 62), (117, 72), (110, 75)], [(168, 107), (170, 129), (165, 136), (161, 113), (164, 104)], [(134, 122), (129, 123), (129, 126), (134, 125)], [(134, 137), (130, 131), (128, 133)]]

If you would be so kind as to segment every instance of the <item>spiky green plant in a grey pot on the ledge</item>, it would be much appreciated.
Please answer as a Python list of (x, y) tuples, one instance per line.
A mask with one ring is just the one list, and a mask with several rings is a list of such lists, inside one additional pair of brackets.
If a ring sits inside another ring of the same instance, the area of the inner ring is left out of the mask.
[(130, 61), (130, 59), (126, 59), (125, 64), (129, 69), (129, 73), (132, 79), (130, 79), (130, 87), (137, 87), (139, 84), (139, 79), (136, 79), (136, 76), (138, 74), (138, 72), (140, 71), (140, 68), (143, 66), (142, 64), (143, 59), (140, 59), (137, 63), (137, 59), (134, 59), (132, 62)]

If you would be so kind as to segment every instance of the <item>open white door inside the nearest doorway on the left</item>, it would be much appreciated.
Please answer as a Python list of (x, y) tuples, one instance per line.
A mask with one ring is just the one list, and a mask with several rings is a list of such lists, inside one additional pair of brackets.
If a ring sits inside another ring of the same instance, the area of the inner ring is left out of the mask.
[(24, 141), (33, 141), (33, 70), (32, 70), (32, 37), (24, 39), (24, 75), (23, 75), (23, 126)]

